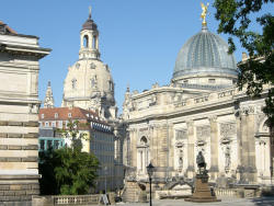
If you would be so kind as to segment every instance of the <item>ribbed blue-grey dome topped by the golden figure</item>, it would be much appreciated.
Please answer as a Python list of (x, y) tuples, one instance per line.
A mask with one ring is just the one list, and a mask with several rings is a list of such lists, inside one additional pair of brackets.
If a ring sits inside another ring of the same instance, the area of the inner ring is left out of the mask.
[(173, 81), (192, 77), (238, 77), (233, 55), (229, 55), (227, 43), (210, 33), (206, 26), (192, 36), (178, 54)]

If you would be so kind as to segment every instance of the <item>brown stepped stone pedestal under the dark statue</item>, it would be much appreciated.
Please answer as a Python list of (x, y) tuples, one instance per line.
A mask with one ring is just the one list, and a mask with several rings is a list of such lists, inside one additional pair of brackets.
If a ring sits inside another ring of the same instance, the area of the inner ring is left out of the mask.
[(208, 186), (208, 175), (197, 174), (195, 182), (195, 190), (191, 197), (185, 198), (186, 202), (194, 203), (210, 203), (210, 202), (220, 202), (217, 199)]

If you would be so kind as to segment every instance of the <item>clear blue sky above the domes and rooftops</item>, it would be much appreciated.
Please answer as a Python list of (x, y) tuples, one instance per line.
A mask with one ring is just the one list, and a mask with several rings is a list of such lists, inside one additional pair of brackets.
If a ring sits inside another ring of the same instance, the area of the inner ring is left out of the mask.
[[(210, 3), (213, 0), (207, 1)], [(41, 60), (39, 99), (52, 81), (56, 106), (69, 65), (78, 60), (80, 30), (92, 5), (100, 31), (101, 59), (111, 67), (115, 99), (122, 112), (127, 84), (139, 92), (151, 84), (169, 84), (176, 55), (199, 32), (199, 0), (1, 0), (0, 20), (18, 33), (36, 35), (52, 48)], [(215, 9), (209, 7), (208, 28), (216, 33)], [(265, 8), (272, 10), (273, 8)], [(259, 28), (258, 28), (259, 30)], [(226, 35), (221, 35), (227, 39)], [(238, 46), (235, 56), (241, 58)]]

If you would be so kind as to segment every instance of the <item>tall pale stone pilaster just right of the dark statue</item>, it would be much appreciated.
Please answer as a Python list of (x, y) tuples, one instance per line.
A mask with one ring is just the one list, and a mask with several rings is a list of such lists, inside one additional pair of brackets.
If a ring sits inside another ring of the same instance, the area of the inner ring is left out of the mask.
[(218, 178), (218, 124), (217, 116), (209, 118), (210, 123), (210, 180)]

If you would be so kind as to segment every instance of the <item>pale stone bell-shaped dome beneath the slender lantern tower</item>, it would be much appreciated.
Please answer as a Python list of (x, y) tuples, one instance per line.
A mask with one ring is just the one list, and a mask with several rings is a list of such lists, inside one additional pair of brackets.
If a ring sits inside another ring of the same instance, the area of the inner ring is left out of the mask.
[[(114, 83), (107, 65), (101, 60), (81, 59), (69, 67), (64, 82), (65, 101), (83, 101), (89, 104), (92, 99), (102, 98), (111, 105), (115, 104)], [(81, 107), (88, 108), (88, 104)]]

